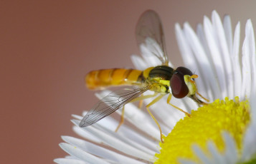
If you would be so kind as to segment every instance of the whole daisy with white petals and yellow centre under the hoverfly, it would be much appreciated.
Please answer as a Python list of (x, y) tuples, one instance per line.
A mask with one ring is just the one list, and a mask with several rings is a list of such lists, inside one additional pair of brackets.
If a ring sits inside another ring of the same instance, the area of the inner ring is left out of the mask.
[[(206, 16), (196, 32), (188, 23), (176, 24), (176, 38), (184, 64), (196, 71), (199, 93), (213, 103), (199, 107), (190, 98), (171, 99), (191, 118), (166, 104), (162, 98), (151, 111), (161, 125), (164, 143), (151, 116), (133, 103), (125, 105), (125, 121), (108, 116), (80, 128), (75, 116), (73, 129), (83, 139), (62, 136), (60, 147), (69, 156), (55, 163), (253, 163), (256, 160), (256, 59), (252, 22), (247, 21), (240, 56), (240, 23), (232, 34), (231, 20), (222, 22), (216, 11)], [(152, 46), (154, 45), (154, 46)], [(142, 58), (132, 56), (136, 68), (159, 65), (153, 54), (157, 43), (141, 45)], [(170, 63), (170, 66), (171, 63)], [(98, 93), (103, 98), (109, 91)], [(145, 100), (146, 104), (151, 100)], [(196, 110), (197, 109), (197, 110)], [(121, 111), (117, 111), (121, 115)], [(83, 113), (85, 116), (86, 112)], [(170, 133), (171, 132), (171, 133)], [(160, 145), (159, 145), (160, 143)]]

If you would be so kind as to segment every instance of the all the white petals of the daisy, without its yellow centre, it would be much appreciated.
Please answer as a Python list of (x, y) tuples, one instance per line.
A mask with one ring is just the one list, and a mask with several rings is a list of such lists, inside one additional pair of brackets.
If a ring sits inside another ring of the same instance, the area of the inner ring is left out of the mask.
[[(223, 133), (225, 150), (220, 153), (214, 143), (209, 141), (208, 150), (212, 155), (204, 154), (198, 146), (194, 152), (202, 163), (244, 163), (256, 154), (256, 59), (255, 36), (252, 22), (247, 21), (245, 27), (245, 40), (242, 44), (242, 60), (240, 56), (240, 23), (237, 24), (234, 35), (229, 16), (224, 16), (224, 21), (219, 19), (216, 11), (212, 13), (212, 21), (204, 17), (204, 25), (196, 29), (196, 33), (188, 23), (181, 29), (176, 24), (176, 38), (179, 43), (184, 64), (192, 71), (196, 71), (199, 78), (196, 84), (199, 93), (210, 101), (217, 98), (228, 97), (233, 99), (239, 96), (240, 100), (250, 101), (251, 118), (242, 142), (242, 150), (236, 148), (234, 139), (228, 132)], [(153, 52), (159, 51), (156, 42), (148, 39), (141, 45), (142, 58), (132, 56), (133, 63), (138, 69), (157, 66), (158, 59)], [(171, 63), (170, 63), (171, 64)], [(172, 66), (172, 65), (170, 65)], [(97, 94), (103, 98), (108, 91)], [(146, 103), (150, 102), (147, 100)], [(198, 106), (189, 98), (183, 100), (173, 98), (171, 103), (182, 109), (196, 109)], [(155, 154), (159, 153), (159, 130), (146, 111), (141, 111), (133, 103), (128, 103), (125, 108), (125, 125), (115, 133), (118, 121), (111, 116), (90, 125), (80, 128), (82, 116), (74, 116), (74, 130), (82, 138), (62, 136), (65, 143), (60, 147), (70, 155), (57, 158), (55, 163), (153, 163)], [(170, 110), (166, 110), (170, 109)], [(168, 134), (177, 121), (184, 117), (184, 113), (170, 108), (166, 99), (152, 106), (151, 111), (161, 124), (163, 134)], [(121, 111), (117, 111), (121, 114)], [(85, 115), (85, 113), (84, 113)], [(127, 123), (129, 122), (129, 123)], [(88, 140), (88, 141), (87, 141)], [(181, 159), (181, 163), (194, 163), (191, 160)]]

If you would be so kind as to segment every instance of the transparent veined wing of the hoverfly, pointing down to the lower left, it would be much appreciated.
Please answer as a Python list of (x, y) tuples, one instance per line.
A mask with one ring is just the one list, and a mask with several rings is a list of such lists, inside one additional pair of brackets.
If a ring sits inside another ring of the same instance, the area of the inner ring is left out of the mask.
[(118, 91), (110, 93), (108, 96), (105, 96), (101, 99), (88, 113), (82, 118), (80, 122), (80, 127), (85, 127), (87, 125), (92, 125), (100, 121), (105, 116), (110, 115), (114, 111), (118, 110), (125, 106), (126, 103), (129, 103), (134, 98), (137, 98), (142, 93), (147, 91), (149, 86), (145, 88), (121, 88)]

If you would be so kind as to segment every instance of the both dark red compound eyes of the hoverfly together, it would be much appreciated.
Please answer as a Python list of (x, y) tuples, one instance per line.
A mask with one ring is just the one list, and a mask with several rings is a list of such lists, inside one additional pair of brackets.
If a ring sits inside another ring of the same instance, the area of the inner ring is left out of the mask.
[(185, 67), (178, 67), (171, 76), (171, 93), (176, 98), (184, 98), (189, 93), (189, 88), (184, 81), (184, 75), (192, 76), (193, 73)]

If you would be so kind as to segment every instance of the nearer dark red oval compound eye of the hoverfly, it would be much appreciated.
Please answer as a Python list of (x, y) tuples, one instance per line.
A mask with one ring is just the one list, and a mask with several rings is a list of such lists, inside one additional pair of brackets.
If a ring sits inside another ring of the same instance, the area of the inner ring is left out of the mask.
[(184, 81), (184, 75), (177, 72), (171, 76), (171, 93), (176, 98), (184, 98), (189, 93), (189, 88)]

